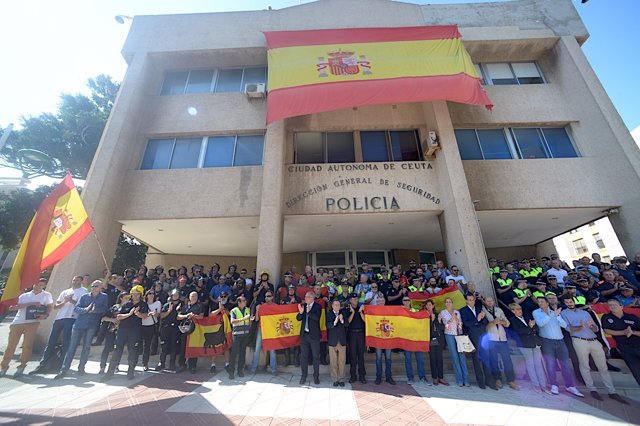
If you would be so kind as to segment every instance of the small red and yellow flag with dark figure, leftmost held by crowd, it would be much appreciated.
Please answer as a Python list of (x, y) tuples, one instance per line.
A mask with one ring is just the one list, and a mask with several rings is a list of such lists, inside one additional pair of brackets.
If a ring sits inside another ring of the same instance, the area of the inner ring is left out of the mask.
[(211, 357), (231, 347), (231, 323), (227, 314), (219, 313), (193, 322), (196, 328), (187, 336), (185, 357)]

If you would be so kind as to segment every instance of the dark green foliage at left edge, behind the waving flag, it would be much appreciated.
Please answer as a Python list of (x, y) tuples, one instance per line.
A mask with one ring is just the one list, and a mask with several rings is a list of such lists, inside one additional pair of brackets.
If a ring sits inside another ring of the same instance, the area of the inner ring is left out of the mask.
[(33, 215), (54, 187), (40, 186), (34, 191), (22, 188), (0, 193), (0, 246), (9, 250), (20, 246)]

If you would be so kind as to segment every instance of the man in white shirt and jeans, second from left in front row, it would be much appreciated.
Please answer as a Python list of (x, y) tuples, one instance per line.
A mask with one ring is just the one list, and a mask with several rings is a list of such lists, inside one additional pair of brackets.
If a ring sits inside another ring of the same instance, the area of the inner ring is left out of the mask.
[[(82, 275), (76, 275), (71, 280), (71, 287), (63, 290), (58, 299), (56, 300), (53, 309), (58, 311), (56, 320), (51, 327), (51, 333), (49, 334), (49, 340), (47, 346), (44, 348), (42, 359), (40, 364), (29, 374), (46, 373), (48, 370), (57, 371), (62, 365), (62, 358), (69, 350), (69, 343), (71, 343), (71, 330), (73, 329), (73, 323), (76, 321), (78, 314), (74, 312), (76, 303), (82, 296), (88, 293), (88, 290), (82, 287), (82, 281), (84, 277)], [(58, 340), (62, 336), (62, 357), (58, 365), (48, 366), (47, 363), (54, 354), (55, 347), (58, 344)]]

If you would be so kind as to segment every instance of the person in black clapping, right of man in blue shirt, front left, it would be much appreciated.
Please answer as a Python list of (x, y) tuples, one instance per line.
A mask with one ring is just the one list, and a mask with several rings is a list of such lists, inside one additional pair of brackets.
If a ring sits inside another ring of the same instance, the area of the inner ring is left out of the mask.
[(131, 288), (131, 300), (120, 307), (116, 318), (118, 319), (118, 332), (116, 334), (115, 350), (111, 356), (109, 369), (100, 381), (110, 380), (122, 358), (122, 352), (127, 346), (129, 369), (127, 379), (132, 380), (136, 364), (138, 363), (138, 351), (142, 342), (142, 319), (149, 315), (149, 306), (142, 300), (144, 288), (135, 285)]

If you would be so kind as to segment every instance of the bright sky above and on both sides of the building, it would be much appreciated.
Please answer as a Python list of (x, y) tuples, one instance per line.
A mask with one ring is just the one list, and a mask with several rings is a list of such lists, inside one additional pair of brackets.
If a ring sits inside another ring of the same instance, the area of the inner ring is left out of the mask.
[[(482, 0), (476, 0), (482, 1)], [(504, 0), (503, 0), (504, 1)], [(104, 73), (121, 81), (129, 21), (116, 15), (274, 9), (309, 0), (20, 0), (3, 3), (0, 21), (0, 128), (21, 116), (55, 112), (59, 95), (87, 93)], [(414, 0), (409, 3), (465, 3)], [(584, 51), (629, 130), (640, 128), (640, 0), (573, 0), (591, 37)]]

